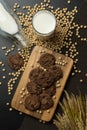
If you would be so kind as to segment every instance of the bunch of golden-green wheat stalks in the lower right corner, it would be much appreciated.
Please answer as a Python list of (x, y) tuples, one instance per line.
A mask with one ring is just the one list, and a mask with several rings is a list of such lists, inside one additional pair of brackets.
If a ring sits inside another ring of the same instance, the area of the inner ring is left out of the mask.
[(59, 103), (63, 113), (57, 113), (53, 123), (59, 130), (87, 130), (87, 96), (65, 94), (63, 103)]

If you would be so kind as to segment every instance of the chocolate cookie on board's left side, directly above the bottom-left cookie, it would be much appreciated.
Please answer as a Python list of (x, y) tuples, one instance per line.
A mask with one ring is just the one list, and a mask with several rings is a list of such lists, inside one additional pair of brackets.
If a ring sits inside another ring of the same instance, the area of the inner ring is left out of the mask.
[(27, 83), (27, 90), (30, 94), (36, 95), (39, 95), (42, 92), (41, 87), (32, 81)]

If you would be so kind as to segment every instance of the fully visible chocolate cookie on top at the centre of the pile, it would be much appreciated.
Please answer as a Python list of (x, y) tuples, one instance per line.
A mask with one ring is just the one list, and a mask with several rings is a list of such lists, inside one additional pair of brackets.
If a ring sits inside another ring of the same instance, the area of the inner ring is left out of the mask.
[(43, 71), (38, 75), (36, 83), (46, 89), (54, 83), (54, 76), (51, 72)]

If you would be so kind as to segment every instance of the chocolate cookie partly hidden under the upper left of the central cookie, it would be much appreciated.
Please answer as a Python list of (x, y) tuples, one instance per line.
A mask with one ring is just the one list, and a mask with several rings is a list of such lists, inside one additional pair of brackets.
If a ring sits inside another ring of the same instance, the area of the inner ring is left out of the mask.
[(43, 69), (37, 67), (33, 70), (31, 70), (30, 74), (29, 74), (29, 78), (32, 81), (37, 81), (38, 75), (40, 75), (43, 72)]

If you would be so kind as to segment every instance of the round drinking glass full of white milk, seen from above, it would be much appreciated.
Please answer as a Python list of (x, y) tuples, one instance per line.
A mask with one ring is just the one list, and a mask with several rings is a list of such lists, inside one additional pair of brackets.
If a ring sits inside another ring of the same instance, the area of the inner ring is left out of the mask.
[(46, 40), (55, 32), (56, 18), (50, 11), (41, 10), (33, 16), (32, 25), (37, 37)]

